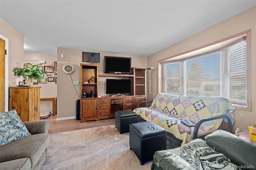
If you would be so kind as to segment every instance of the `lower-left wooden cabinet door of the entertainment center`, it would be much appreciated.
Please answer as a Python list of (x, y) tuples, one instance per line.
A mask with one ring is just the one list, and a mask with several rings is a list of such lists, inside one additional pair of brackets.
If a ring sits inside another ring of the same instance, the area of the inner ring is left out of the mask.
[(81, 105), (81, 122), (89, 120), (98, 121), (98, 99), (84, 99)]

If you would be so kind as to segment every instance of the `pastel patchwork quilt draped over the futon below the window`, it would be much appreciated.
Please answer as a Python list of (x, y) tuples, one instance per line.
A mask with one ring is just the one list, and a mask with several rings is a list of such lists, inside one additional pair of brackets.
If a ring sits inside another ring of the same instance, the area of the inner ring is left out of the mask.
[[(232, 112), (235, 109), (224, 97), (216, 96), (178, 96), (159, 93), (150, 107), (139, 107), (134, 109), (140, 117), (146, 121), (152, 121), (167, 132), (174, 134), (182, 145), (193, 139), (194, 127), (188, 127), (180, 121), (194, 121), (218, 115), (228, 115), (234, 124)], [(198, 130), (198, 136), (208, 134), (217, 130), (222, 119), (202, 123)]]

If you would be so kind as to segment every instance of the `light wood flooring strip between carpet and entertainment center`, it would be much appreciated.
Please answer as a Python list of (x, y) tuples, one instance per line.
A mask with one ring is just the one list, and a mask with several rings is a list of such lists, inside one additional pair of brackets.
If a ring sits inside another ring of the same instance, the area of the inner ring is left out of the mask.
[(56, 121), (57, 115), (50, 116), (47, 119), (41, 119), (46, 120), (49, 122), (49, 129), (48, 132), (50, 134), (52, 133), (58, 133), (58, 132), (68, 132), (73, 130), (80, 130), (85, 128), (94, 128), (94, 127), (103, 127), (108, 125), (115, 125), (115, 119), (103, 119), (100, 121), (86, 121), (80, 123), (79, 121), (76, 121), (74, 119), (68, 119), (68, 120), (61, 120)]

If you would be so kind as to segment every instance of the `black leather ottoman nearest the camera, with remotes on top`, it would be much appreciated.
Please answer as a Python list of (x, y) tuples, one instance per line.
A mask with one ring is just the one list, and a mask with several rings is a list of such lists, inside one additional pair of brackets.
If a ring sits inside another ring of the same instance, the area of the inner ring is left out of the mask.
[(166, 130), (152, 122), (132, 123), (130, 127), (130, 149), (143, 165), (153, 160), (158, 150), (166, 150)]

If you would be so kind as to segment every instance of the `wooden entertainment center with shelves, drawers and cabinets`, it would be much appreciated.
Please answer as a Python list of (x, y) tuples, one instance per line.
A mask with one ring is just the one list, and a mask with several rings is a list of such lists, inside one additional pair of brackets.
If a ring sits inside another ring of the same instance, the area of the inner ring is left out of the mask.
[[(98, 74), (98, 65), (80, 64), (81, 66), (81, 123), (99, 121), (115, 117), (115, 111), (133, 110), (138, 103), (146, 101), (146, 68), (132, 67), (130, 75)], [(98, 77), (128, 77), (132, 82), (132, 93), (128, 96), (98, 97)], [(95, 81), (90, 81), (91, 78)], [(84, 94), (86, 89), (86, 94)]]

